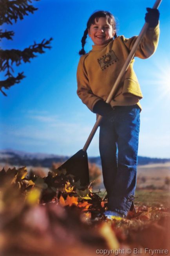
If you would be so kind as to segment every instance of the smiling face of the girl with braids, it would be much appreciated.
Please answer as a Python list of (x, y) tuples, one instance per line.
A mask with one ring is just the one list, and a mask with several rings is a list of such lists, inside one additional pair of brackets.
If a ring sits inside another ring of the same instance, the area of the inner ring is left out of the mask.
[(95, 19), (95, 24), (91, 24), (88, 29), (88, 35), (95, 45), (106, 44), (111, 38), (114, 37), (115, 30), (106, 22), (105, 17), (100, 17), (98, 21)]

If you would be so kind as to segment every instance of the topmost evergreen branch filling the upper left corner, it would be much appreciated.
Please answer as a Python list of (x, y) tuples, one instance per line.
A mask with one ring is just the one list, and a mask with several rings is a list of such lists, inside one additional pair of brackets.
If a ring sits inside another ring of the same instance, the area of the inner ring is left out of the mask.
[[(39, 0), (34, 0), (39, 1)], [(0, 0), (0, 25), (13, 24), (12, 20), (23, 20), (24, 15), (34, 13), (38, 8), (30, 5), (32, 0)]]

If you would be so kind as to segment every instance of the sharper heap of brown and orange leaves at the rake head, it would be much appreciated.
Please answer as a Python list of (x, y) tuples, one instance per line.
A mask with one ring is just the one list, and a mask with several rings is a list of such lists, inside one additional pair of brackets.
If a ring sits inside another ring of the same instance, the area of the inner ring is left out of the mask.
[[(39, 204), (56, 203), (61, 206), (76, 206), (82, 212), (89, 212), (90, 217), (101, 217), (106, 199), (99, 197), (99, 193), (92, 192), (92, 184), (86, 187), (80, 181), (74, 182), (74, 176), (67, 174), (65, 169), (54, 169), (47, 177), (40, 177), (31, 171), (28, 175), (26, 168), (8, 169), (0, 171), (0, 187), (4, 184), (13, 190), (19, 190), (26, 201)], [(89, 215), (89, 214), (88, 214)]]

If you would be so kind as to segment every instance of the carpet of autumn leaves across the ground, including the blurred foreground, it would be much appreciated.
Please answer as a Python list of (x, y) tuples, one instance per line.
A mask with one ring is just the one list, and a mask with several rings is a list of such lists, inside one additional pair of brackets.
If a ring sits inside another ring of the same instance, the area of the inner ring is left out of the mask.
[[(26, 168), (2, 169), (0, 253), (93, 256), (96, 250), (144, 246), (146, 241), (152, 245), (150, 238), (153, 247), (166, 246), (167, 209), (139, 206), (128, 219), (110, 221), (103, 214), (106, 206), (92, 184), (81, 187), (65, 170), (54, 169), (42, 178)], [(159, 240), (153, 237), (157, 233)]]

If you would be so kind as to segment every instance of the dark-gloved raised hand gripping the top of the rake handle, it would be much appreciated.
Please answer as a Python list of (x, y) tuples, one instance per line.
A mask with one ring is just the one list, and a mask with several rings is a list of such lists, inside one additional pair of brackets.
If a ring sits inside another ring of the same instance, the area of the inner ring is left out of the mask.
[(149, 24), (149, 28), (154, 28), (159, 22), (159, 10), (147, 7), (145, 14), (145, 21)]

